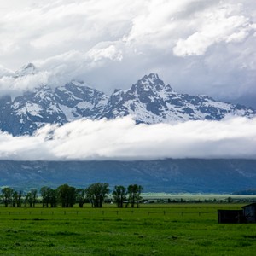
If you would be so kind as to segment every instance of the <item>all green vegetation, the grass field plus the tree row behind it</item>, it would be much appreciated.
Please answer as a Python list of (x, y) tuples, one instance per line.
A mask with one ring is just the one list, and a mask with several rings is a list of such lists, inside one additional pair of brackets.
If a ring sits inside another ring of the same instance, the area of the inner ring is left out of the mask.
[(43, 187), (39, 196), (3, 188), (0, 255), (254, 255), (254, 224), (217, 223), (218, 209), (247, 203), (160, 203), (142, 191), (116, 186), (106, 200), (108, 183)]

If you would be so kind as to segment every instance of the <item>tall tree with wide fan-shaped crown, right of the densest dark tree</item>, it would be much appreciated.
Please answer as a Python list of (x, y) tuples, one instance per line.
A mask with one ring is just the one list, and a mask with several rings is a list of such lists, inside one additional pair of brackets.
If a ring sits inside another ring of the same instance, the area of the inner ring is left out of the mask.
[(107, 197), (110, 190), (108, 183), (93, 183), (85, 189), (85, 194), (92, 207), (101, 208), (104, 199)]

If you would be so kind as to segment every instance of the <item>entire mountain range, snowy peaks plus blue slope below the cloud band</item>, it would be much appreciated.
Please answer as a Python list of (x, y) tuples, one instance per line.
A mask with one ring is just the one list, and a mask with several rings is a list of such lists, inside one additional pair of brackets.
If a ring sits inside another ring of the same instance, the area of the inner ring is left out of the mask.
[[(29, 63), (13, 79), (37, 74)], [(13, 136), (32, 135), (45, 124), (63, 125), (75, 119), (115, 119), (131, 115), (137, 124), (220, 120), (229, 115), (253, 118), (256, 111), (218, 102), (209, 96), (189, 96), (172, 90), (156, 73), (145, 75), (128, 90), (108, 96), (82, 81), (51, 88), (39, 84), (20, 96), (0, 97), (0, 130)], [(144, 192), (224, 193), (256, 188), (256, 160), (133, 160), (133, 161), (14, 161), (0, 160), (0, 187), (55, 188), (61, 183), (139, 183)], [(72, 174), (72, 175), (71, 175)]]

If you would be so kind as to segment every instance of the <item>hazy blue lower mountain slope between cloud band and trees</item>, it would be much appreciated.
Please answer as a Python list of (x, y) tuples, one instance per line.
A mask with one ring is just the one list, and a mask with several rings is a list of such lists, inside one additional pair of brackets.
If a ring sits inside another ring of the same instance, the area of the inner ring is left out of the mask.
[[(256, 160), (0, 161), (0, 186), (141, 184), (144, 192), (231, 193), (256, 188)], [(72, 173), (72, 175), (70, 175)]]

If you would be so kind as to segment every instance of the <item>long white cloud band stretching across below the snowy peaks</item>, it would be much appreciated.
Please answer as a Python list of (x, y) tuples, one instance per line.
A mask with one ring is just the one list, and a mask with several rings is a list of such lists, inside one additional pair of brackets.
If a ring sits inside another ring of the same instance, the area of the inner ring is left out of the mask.
[(256, 119), (135, 125), (131, 117), (46, 125), (34, 136), (0, 133), (1, 160), (256, 159)]

